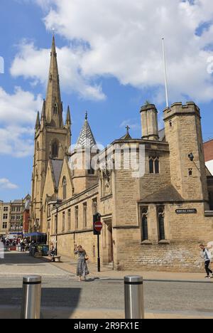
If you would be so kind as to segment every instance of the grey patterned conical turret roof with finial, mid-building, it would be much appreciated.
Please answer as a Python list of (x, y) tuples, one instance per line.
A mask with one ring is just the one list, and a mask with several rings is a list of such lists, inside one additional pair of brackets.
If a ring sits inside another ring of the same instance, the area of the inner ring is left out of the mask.
[(97, 147), (97, 143), (94, 139), (94, 135), (92, 134), (92, 129), (89, 126), (87, 112), (86, 112), (86, 116), (85, 116), (84, 125), (80, 132), (80, 137), (77, 140), (77, 148), (78, 147), (80, 147), (80, 148)]

